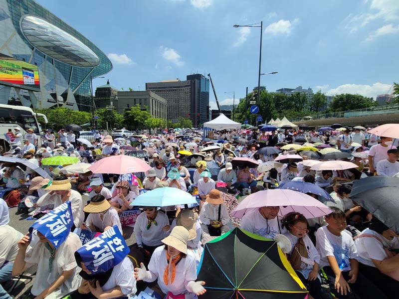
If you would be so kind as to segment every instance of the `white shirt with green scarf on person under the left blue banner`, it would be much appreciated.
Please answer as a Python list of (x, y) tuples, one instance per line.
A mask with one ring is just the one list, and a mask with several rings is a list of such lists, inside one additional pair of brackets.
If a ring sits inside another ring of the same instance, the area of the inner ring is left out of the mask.
[[(33, 280), (33, 287), (30, 291), (32, 295), (38, 296), (45, 289), (57, 280), (63, 271), (74, 270), (74, 273), (64, 281), (64, 283), (51, 295), (67, 294), (77, 290), (80, 286), (81, 277), (79, 268), (76, 265), (75, 251), (82, 247), (79, 236), (69, 233), (66, 240), (55, 251), (51, 272), (48, 272), (48, 260), (50, 252), (44, 247), (43, 243), (37, 243), (32, 247), (28, 246), (25, 255), (25, 266), (27, 268), (37, 265), (36, 278)], [(60, 296), (62, 297), (62, 296)]]

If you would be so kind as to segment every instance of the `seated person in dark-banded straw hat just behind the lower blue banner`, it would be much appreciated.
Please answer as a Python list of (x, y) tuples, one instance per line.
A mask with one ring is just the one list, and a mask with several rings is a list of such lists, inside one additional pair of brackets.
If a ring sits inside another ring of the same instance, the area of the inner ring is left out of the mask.
[(122, 233), (118, 212), (115, 209), (111, 209), (111, 204), (103, 195), (94, 195), (90, 203), (83, 208), (83, 211), (89, 213), (89, 215), (87, 216), (86, 223), (80, 225), (81, 229), (103, 233), (110, 227), (117, 225)]

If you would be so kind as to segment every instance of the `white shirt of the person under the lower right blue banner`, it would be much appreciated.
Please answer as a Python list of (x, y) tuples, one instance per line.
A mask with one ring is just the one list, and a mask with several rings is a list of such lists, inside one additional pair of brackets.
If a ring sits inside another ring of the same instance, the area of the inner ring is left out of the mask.
[(114, 267), (108, 281), (102, 286), (103, 291), (109, 291), (115, 287), (120, 287), (124, 295), (135, 294), (137, 292), (136, 280), (133, 275), (133, 264), (128, 257)]

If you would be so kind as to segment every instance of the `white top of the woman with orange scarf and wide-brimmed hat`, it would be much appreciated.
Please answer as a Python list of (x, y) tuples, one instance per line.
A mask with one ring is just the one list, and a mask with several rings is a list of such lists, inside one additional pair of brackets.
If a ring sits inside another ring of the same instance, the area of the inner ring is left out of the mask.
[(164, 294), (168, 292), (174, 295), (188, 293), (187, 284), (197, 279), (196, 260), (194, 256), (191, 251), (188, 251), (186, 258), (181, 259), (176, 265), (176, 276), (173, 283), (165, 285), (164, 273), (168, 266), (168, 261), (164, 248), (165, 246), (160, 246), (155, 249), (150, 263), (148, 264), (148, 270), (151, 272), (152, 281), (158, 279), (158, 286)]

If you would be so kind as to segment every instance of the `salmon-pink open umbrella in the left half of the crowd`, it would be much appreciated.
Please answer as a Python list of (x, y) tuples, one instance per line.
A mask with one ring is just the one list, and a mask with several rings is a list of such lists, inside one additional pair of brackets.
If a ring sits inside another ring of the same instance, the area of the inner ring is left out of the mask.
[(89, 170), (93, 173), (125, 174), (146, 172), (150, 168), (150, 165), (140, 158), (120, 154), (98, 160), (89, 167)]

